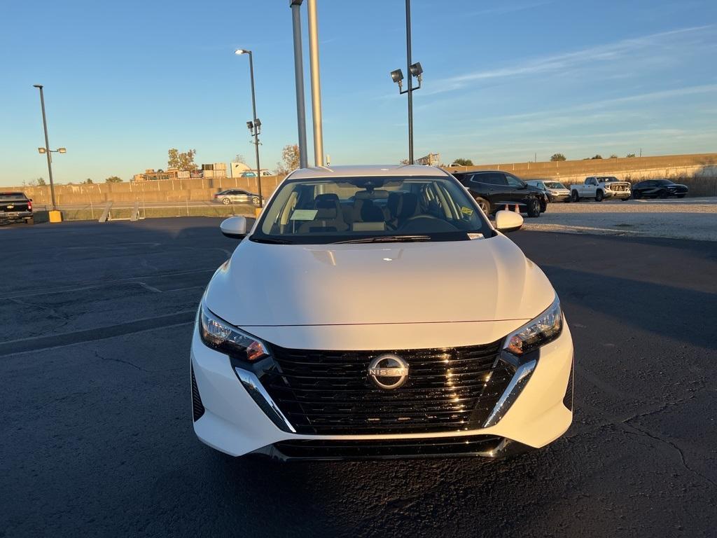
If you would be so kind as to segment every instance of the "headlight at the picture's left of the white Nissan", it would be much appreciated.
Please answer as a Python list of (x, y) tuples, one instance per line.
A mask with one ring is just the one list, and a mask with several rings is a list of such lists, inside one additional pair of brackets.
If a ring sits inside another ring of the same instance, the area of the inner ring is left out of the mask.
[(262, 342), (214, 316), (204, 302), (199, 307), (199, 336), (206, 346), (237, 359), (254, 362), (269, 354)]

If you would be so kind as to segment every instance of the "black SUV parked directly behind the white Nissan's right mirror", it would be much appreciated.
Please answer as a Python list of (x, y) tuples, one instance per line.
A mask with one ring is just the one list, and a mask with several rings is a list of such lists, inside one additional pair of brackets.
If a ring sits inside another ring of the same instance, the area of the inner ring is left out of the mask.
[(513, 174), (503, 171), (479, 170), (454, 172), (485, 214), (493, 214), (508, 205), (518, 204), (521, 213), (528, 217), (540, 217), (548, 207), (548, 197), (537, 187), (531, 187)]

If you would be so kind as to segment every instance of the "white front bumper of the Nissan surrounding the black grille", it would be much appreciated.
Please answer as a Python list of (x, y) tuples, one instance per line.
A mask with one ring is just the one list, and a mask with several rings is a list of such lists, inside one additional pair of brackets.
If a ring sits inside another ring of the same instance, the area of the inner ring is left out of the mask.
[[(571, 394), (566, 398), (566, 392), (571, 392), (572, 364), (572, 339), (565, 324), (561, 336), (541, 348), (531, 377), (518, 390), (508, 411), (488, 428), (438, 433), (300, 435), (280, 429), (270, 419), (266, 407), (262, 410), (239, 381), (229, 357), (206, 347), (195, 329), (191, 372), (201, 402), (199, 413), (194, 402), (198, 417), (194, 432), (202, 442), (231, 456), (252, 452), (280, 459), (341, 459), (366, 454), (503, 456), (515, 450), (539, 448), (567, 430), (572, 421)], [(468, 450), (457, 449), (459, 443), (467, 445)], [(407, 449), (408, 445), (422, 448)], [(446, 449), (447, 446), (453, 448)], [(378, 452), (365, 450), (366, 447), (378, 448)], [(440, 448), (432, 450), (432, 447)], [(302, 448), (319, 450), (302, 451)]]

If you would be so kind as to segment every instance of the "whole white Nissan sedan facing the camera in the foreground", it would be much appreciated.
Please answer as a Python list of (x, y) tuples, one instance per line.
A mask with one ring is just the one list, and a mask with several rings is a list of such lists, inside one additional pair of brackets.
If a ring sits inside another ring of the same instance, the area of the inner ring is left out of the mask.
[(572, 420), (551, 283), (432, 166), (300, 169), (209, 282), (191, 343), (194, 431), (281, 460), (505, 456)]

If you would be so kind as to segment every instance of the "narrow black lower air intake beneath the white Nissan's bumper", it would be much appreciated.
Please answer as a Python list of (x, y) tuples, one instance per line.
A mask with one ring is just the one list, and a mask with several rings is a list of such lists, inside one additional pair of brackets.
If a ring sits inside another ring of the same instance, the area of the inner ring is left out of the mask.
[(467, 456), (498, 448), (503, 438), (493, 435), (467, 435), (429, 439), (381, 440), (295, 440), (274, 446), (283, 459), (363, 459), (427, 456)]

